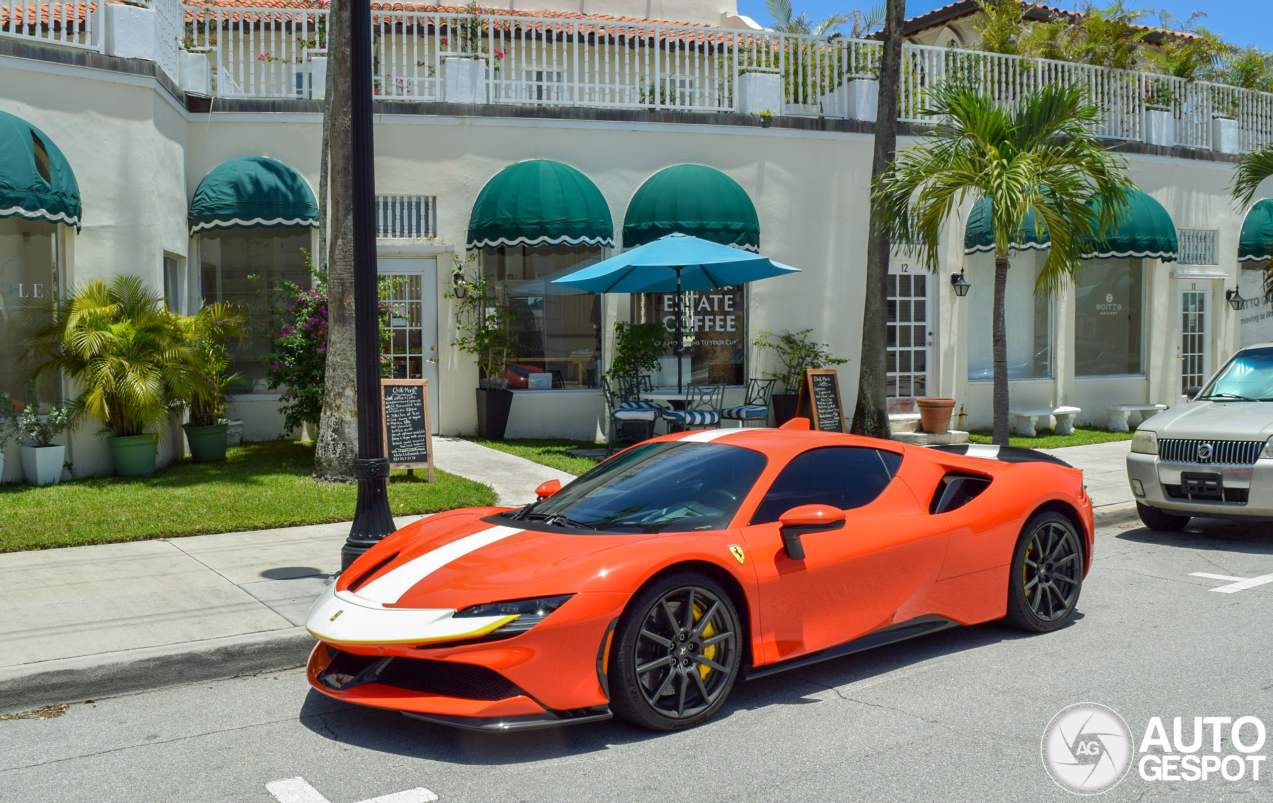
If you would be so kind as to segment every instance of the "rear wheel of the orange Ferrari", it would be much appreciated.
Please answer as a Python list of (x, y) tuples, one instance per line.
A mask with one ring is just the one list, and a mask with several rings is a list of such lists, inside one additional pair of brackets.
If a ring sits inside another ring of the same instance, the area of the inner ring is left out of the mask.
[(1021, 528), (1008, 574), (1007, 621), (1027, 632), (1051, 632), (1069, 622), (1083, 588), (1083, 538), (1053, 510)]

